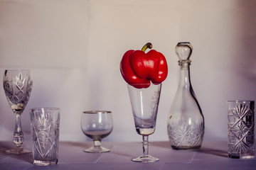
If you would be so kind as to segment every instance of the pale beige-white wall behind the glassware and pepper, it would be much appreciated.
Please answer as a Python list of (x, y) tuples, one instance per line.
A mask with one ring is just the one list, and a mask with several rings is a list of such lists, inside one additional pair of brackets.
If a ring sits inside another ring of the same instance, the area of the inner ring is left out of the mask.
[[(166, 56), (156, 132), (168, 140), (166, 118), (178, 86), (177, 42), (193, 45), (191, 81), (205, 116), (205, 139), (226, 139), (226, 101), (256, 101), (256, 1), (253, 0), (0, 0), (0, 72), (26, 68), (33, 91), (28, 110), (59, 107), (60, 140), (90, 140), (80, 130), (86, 110), (110, 110), (109, 141), (141, 141), (134, 129), (124, 52), (152, 42)], [(2, 84), (2, 76), (0, 77)], [(15, 117), (0, 88), (0, 140), (12, 140)]]

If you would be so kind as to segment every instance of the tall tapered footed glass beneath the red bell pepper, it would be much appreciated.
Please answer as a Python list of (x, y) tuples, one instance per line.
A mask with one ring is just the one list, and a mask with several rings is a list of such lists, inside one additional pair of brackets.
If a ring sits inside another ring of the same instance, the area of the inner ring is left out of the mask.
[(161, 84), (151, 84), (146, 89), (137, 89), (127, 85), (129, 98), (132, 105), (134, 124), (136, 131), (142, 135), (143, 154), (132, 159), (133, 162), (156, 162), (158, 158), (149, 155), (149, 135), (154, 133), (156, 128), (156, 115), (161, 94)]

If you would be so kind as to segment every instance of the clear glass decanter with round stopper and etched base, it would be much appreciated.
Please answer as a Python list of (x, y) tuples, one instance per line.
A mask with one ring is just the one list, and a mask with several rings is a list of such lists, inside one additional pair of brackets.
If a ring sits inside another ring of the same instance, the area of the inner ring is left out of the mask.
[(178, 42), (176, 45), (181, 77), (167, 119), (167, 131), (173, 149), (198, 149), (203, 142), (203, 113), (190, 78), (189, 58), (192, 50), (190, 42)]

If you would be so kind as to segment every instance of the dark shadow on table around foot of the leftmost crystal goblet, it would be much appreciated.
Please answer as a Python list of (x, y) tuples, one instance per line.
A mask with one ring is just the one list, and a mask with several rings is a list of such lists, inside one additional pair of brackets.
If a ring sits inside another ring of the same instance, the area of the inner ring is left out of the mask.
[(5, 157), (9, 157), (11, 159), (21, 160), (22, 162), (28, 162), (28, 163), (33, 162), (32, 152), (28, 153), (28, 154), (6, 154), (6, 153), (4, 153), (6, 150), (13, 149), (13, 148), (14, 148), (13, 143), (12, 143), (12, 145), (10, 145), (10, 144), (5, 144), (3, 142), (0, 142), (0, 160)]

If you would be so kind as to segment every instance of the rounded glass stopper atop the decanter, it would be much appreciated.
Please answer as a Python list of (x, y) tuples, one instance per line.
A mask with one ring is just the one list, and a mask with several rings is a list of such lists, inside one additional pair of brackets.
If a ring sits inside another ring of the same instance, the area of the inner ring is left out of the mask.
[(189, 57), (191, 57), (193, 47), (190, 42), (178, 42), (176, 45), (176, 55), (178, 55), (179, 64), (181, 62), (190, 62)]

